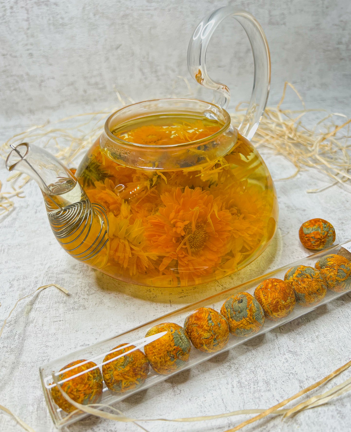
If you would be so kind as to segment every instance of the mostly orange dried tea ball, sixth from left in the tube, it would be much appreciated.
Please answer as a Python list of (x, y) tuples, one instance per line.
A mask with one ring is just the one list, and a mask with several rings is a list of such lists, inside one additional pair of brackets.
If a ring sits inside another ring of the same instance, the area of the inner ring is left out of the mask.
[(270, 320), (285, 318), (295, 307), (294, 289), (281, 279), (266, 279), (255, 289), (255, 297)]

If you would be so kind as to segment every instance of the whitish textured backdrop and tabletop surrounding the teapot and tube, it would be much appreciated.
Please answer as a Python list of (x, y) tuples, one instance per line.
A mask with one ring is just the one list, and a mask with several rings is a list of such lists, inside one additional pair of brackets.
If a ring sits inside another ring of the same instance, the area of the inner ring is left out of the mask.
[[(230, 3), (253, 13), (266, 32), (272, 55), (271, 104), (278, 102), (283, 83), (289, 80), (309, 106), (350, 117), (348, 0)], [(188, 76), (188, 39), (202, 16), (222, 4), (208, 0), (2, 1), (2, 137), (33, 121), (114, 105), (113, 85), (136, 101), (187, 94), (177, 75)], [(209, 48), (209, 72), (231, 87), (234, 104), (250, 94), (250, 47), (234, 20), (221, 29), (223, 33), (218, 29)], [(192, 86), (196, 90), (196, 83)], [(289, 93), (287, 101), (295, 100)], [(273, 178), (293, 172), (283, 159), (264, 156)], [(0, 178), (6, 177), (1, 162)], [(279, 230), (259, 260), (209, 286), (162, 292), (120, 283), (66, 255), (51, 233), (38, 187), (28, 184), (26, 198), (16, 200), (15, 210), (0, 224), (0, 318), (7, 316), (16, 299), (47, 283), (66, 287), (71, 296), (49, 288), (20, 303), (8, 321), (0, 339), (0, 404), (36, 432), (52, 432), (39, 365), (309, 254), (297, 239), (297, 230), (307, 219), (323, 217), (332, 222), (337, 241), (351, 237), (350, 193), (341, 187), (306, 193), (323, 184), (325, 179), (314, 171), (276, 182)], [(345, 295), (126, 400), (120, 409), (130, 416), (179, 417), (269, 407), (350, 359), (350, 320), (351, 295)], [(336, 383), (349, 376), (346, 372)], [(345, 394), (284, 422), (266, 419), (245, 430), (347, 432), (350, 410), (351, 396)], [(155, 432), (220, 432), (244, 418), (201, 426), (144, 426)], [(0, 412), (1, 432), (20, 430)], [(138, 429), (92, 418), (70, 427), (70, 432), (117, 430)]]

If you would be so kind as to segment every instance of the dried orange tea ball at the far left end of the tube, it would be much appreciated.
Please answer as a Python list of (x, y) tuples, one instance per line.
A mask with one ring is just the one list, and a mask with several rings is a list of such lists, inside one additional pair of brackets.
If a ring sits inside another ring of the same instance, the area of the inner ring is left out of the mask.
[[(89, 372), (82, 373), (75, 378), (61, 383), (60, 385), (62, 390), (77, 403), (81, 403), (82, 405), (98, 403), (102, 395), (101, 371), (97, 367), (96, 363), (87, 362), (82, 365), (81, 363), (83, 362), (86, 362), (86, 360), (76, 360), (60, 369), (59, 372), (62, 372), (62, 374), (57, 377), (59, 384), (60, 381), (63, 381), (66, 378), (70, 378), (73, 375), (86, 371), (87, 369), (94, 368)], [(75, 365), (77, 365), (75, 368), (66, 370)], [(51, 388), (51, 394), (55, 403), (62, 408), (63, 411), (66, 411), (66, 413), (71, 413), (76, 410), (76, 407), (73, 407), (73, 405), (62, 396), (57, 386)]]

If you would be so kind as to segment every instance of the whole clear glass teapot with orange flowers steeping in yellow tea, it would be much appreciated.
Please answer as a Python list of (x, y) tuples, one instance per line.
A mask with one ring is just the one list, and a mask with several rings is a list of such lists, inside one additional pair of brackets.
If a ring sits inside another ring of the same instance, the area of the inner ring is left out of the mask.
[[(253, 50), (254, 85), (238, 130), (230, 92), (206, 71), (218, 24), (234, 17)], [(13, 147), (6, 166), (40, 186), (51, 228), (74, 258), (145, 286), (192, 286), (256, 259), (272, 239), (278, 206), (272, 178), (250, 143), (269, 92), (270, 59), (256, 19), (231, 6), (206, 16), (190, 39), (191, 76), (215, 102), (160, 99), (108, 118), (74, 176), (49, 152)]]

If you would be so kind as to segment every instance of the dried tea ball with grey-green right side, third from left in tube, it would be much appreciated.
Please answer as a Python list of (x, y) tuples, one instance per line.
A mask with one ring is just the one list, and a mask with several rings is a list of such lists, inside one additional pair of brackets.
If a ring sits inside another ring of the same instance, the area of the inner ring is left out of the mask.
[(146, 357), (155, 372), (168, 375), (182, 368), (190, 354), (190, 340), (183, 327), (174, 323), (162, 323), (152, 327), (145, 337), (166, 332), (144, 346)]

